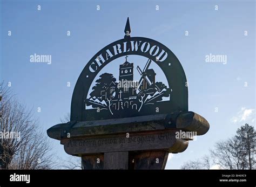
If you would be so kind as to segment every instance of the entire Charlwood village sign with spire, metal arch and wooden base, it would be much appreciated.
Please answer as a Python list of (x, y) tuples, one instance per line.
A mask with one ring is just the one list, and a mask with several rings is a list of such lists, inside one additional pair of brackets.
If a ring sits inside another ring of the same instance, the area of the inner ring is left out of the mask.
[[(66, 153), (82, 157), (84, 169), (164, 169), (169, 153), (184, 151), (193, 140), (189, 133), (203, 135), (210, 127), (204, 117), (188, 112), (187, 80), (177, 57), (158, 41), (130, 33), (128, 18), (124, 39), (96, 53), (80, 74), (70, 122), (47, 131)], [(146, 59), (137, 71), (129, 62), (132, 56)], [(119, 68), (116, 63), (111, 68), (119, 72), (119, 81), (99, 73), (118, 58)]]

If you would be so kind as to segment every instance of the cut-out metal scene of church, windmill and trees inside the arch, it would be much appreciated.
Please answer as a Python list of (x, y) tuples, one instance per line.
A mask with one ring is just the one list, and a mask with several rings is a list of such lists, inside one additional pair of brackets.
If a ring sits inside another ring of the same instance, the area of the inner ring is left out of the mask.
[[(156, 82), (156, 73), (149, 68), (151, 60), (147, 60), (143, 70), (137, 66), (140, 79), (134, 81), (134, 66), (133, 63), (127, 61), (127, 57), (125, 57), (125, 62), (119, 65), (119, 83), (116, 82), (112, 74), (100, 75), (96, 86), (92, 88), (94, 91), (87, 100), (87, 106), (109, 109), (113, 115), (113, 112), (118, 110), (140, 111), (143, 105), (153, 105), (165, 96), (162, 91), (168, 88), (162, 82)], [(129, 84), (131, 82), (137, 82), (137, 84)], [(98, 91), (99, 94), (97, 94)]]

